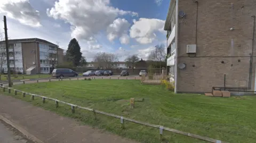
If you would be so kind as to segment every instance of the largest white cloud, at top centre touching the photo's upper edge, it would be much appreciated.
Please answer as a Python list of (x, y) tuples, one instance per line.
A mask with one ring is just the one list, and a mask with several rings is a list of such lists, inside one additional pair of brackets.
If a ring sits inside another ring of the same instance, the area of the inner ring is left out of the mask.
[(124, 14), (138, 15), (110, 6), (109, 0), (60, 0), (55, 2), (54, 7), (47, 9), (48, 16), (71, 24), (71, 37), (86, 40), (91, 35), (107, 30), (118, 15)]

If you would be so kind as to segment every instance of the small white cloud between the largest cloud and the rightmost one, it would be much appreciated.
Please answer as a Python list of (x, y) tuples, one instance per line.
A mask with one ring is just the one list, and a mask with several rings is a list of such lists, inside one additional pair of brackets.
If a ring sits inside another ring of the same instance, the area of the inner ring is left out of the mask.
[(107, 28), (108, 40), (113, 41), (117, 37), (120, 37), (119, 40), (122, 44), (128, 44), (129, 36), (127, 35), (127, 31), (130, 26), (131, 24), (125, 19), (118, 18), (114, 20)]

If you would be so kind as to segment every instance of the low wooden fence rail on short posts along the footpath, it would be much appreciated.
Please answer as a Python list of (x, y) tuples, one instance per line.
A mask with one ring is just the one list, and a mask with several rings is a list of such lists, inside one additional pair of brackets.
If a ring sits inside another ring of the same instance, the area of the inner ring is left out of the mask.
[(193, 133), (189, 133), (189, 132), (184, 132), (184, 131), (179, 131), (179, 130), (163, 127), (162, 125), (156, 125), (156, 124), (141, 122), (141, 121), (129, 119), (127, 117), (123, 117), (123, 116), (119, 116), (119, 115), (115, 115), (115, 114), (111, 114), (111, 113), (107, 113), (107, 112), (103, 112), (103, 111), (99, 111), (99, 110), (94, 110), (93, 108), (87, 108), (87, 107), (78, 106), (78, 105), (75, 105), (75, 104), (63, 102), (61, 100), (50, 98), (50, 97), (46, 97), (46, 96), (42, 96), (42, 95), (30, 94), (30, 93), (25, 92), (25, 91), (21, 91), (21, 90), (5, 87), (5, 86), (3, 86), (3, 84), (1, 84), (0, 87), (3, 88), (3, 92), (5, 92), (5, 89), (8, 89), (9, 94), (11, 94), (11, 90), (14, 90), (14, 94), (15, 95), (17, 95), (18, 92), (21, 92), (23, 97), (26, 97), (26, 95), (30, 95), (32, 100), (34, 100), (35, 97), (41, 97), (43, 99), (42, 100), (43, 103), (45, 103), (46, 99), (53, 100), (55, 102), (55, 106), (56, 107), (59, 107), (59, 103), (70, 105), (72, 113), (75, 113), (75, 107), (76, 107), (76, 108), (81, 108), (83, 110), (87, 110), (87, 111), (93, 112), (94, 113), (94, 118), (96, 117), (96, 113), (107, 115), (107, 116), (111, 116), (111, 117), (115, 117), (115, 118), (121, 120), (122, 128), (124, 128), (124, 121), (129, 121), (129, 122), (133, 122), (133, 123), (137, 123), (137, 124), (141, 124), (141, 125), (146, 125), (146, 126), (152, 127), (152, 128), (157, 128), (157, 129), (159, 129), (159, 135), (160, 135), (160, 140), (161, 141), (163, 141), (163, 130), (165, 130), (165, 131), (170, 131), (170, 132), (173, 132), (173, 133), (183, 134), (184, 136), (188, 136), (188, 137), (192, 137), (192, 138), (196, 138), (196, 139), (201, 139), (201, 140), (205, 140), (205, 141), (209, 141), (209, 142), (227, 143), (225, 141), (221, 141), (221, 140), (217, 140), (217, 139), (212, 139), (212, 138), (208, 138), (208, 137), (203, 137), (203, 136), (199, 136), (197, 134), (193, 134)]

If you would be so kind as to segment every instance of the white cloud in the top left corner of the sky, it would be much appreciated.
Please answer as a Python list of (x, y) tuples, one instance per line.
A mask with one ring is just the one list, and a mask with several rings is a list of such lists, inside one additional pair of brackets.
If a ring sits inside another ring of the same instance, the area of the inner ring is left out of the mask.
[(41, 27), (39, 11), (28, 0), (1, 0), (0, 12), (7, 13), (11, 19), (31, 27)]

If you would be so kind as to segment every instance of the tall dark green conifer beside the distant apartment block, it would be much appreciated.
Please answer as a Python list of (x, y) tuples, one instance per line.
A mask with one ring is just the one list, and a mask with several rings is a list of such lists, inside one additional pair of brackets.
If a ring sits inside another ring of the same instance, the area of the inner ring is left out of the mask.
[(66, 52), (67, 61), (73, 62), (74, 66), (78, 66), (81, 62), (82, 53), (81, 53), (81, 47), (76, 40), (76, 38), (73, 38), (70, 40), (68, 44), (68, 49)]

